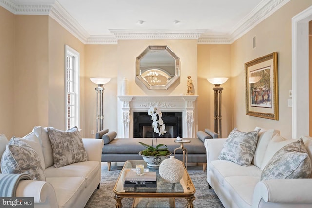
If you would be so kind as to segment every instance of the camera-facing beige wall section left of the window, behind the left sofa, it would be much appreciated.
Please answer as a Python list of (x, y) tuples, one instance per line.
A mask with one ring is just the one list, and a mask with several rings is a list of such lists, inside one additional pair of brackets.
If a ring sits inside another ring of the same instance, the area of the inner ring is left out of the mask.
[(16, 15), (14, 134), (48, 125), (48, 16)]

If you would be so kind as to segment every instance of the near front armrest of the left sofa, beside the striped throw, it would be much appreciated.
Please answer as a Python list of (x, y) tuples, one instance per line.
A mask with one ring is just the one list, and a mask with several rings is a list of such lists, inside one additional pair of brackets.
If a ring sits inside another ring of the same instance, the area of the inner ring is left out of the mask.
[[(50, 183), (45, 181), (21, 180), (15, 195), (17, 197), (34, 197), (35, 207), (58, 207), (54, 189)], [(36, 206), (36, 204), (39, 205)]]

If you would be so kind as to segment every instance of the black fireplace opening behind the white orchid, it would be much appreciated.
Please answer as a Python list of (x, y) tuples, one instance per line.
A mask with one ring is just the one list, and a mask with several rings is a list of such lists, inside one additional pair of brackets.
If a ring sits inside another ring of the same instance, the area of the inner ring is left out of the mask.
[[(182, 138), (182, 112), (162, 112), (162, 120), (166, 125), (167, 133), (158, 137)], [(147, 112), (133, 112), (133, 121), (134, 138), (153, 137), (152, 120)]]

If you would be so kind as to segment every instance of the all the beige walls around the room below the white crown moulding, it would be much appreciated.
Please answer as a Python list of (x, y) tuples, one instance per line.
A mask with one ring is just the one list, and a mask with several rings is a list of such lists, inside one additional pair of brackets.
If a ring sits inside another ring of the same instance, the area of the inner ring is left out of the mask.
[[(24, 135), (36, 125), (64, 129), (63, 52), (64, 45), (69, 45), (80, 53), (79, 128), (83, 137), (94, 137), (91, 130), (96, 129), (91, 77), (112, 78), (105, 85), (104, 126), (117, 131), (119, 115), (115, 106), (124, 77), (129, 81), (129, 95), (181, 95), (186, 93), (187, 76), (191, 76), (198, 95), (195, 127), (202, 130), (213, 126), (213, 85), (206, 78), (225, 76), (229, 80), (223, 85), (223, 135), (234, 127), (249, 130), (259, 125), (275, 126), (283, 136), (291, 138), (292, 108), (287, 106), (292, 89), (291, 18), (310, 5), (307, 0), (291, 0), (231, 44), (165, 39), (118, 40), (118, 44), (107, 45), (83, 44), (48, 15), (15, 15), (1, 7), (1, 19), (5, 21), (1, 24), (0, 89), (4, 99), (0, 130), (11, 137)], [(181, 58), (180, 84), (174, 89), (146, 90), (135, 83), (135, 58), (148, 45), (168, 45)], [(244, 63), (272, 52), (278, 52), (278, 121), (248, 116), (245, 111)]]

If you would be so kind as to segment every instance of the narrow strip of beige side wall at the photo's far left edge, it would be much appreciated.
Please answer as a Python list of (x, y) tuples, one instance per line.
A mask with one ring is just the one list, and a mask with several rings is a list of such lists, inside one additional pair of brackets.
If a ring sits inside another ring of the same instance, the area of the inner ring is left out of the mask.
[(0, 7), (0, 134), (14, 134), (15, 15)]

